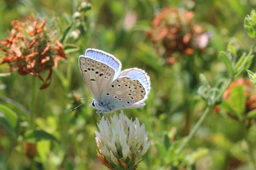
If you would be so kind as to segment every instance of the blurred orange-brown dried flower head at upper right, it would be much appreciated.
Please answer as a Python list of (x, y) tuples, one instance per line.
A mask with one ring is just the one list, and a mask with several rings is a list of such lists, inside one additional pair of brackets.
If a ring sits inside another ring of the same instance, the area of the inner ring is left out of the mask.
[(192, 22), (193, 17), (192, 11), (182, 11), (173, 7), (163, 8), (154, 17), (152, 28), (146, 31), (147, 37), (156, 47), (157, 54), (167, 58), (167, 64), (177, 61), (172, 56), (175, 51), (182, 55), (194, 54), (194, 41), (203, 29)]

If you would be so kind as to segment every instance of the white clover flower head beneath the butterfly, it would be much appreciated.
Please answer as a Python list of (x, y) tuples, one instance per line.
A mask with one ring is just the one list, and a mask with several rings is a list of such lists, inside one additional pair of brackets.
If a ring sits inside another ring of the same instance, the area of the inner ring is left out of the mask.
[(103, 116), (99, 123), (99, 131), (95, 131), (96, 143), (99, 147), (99, 161), (113, 170), (135, 170), (140, 158), (150, 147), (148, 131), (139, 119), (128, 119), (121, 111), (119, 117), (114, 114), (111, 125)]

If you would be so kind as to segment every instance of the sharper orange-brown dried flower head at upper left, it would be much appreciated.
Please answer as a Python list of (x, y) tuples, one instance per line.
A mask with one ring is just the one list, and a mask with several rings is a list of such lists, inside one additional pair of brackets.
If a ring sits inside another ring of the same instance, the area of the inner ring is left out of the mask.
[[(41, 79), (47, 88), (51, 82), (52, 66), (58, 66), (59, 60), (67, 59), (57, 30), (51, 28), (41, 17), (26, 17), (25, 21), (13, 20), (9, 38), (0, 41), (0, 65), (8, 63), (12, 71), (20, 75), (31, 74)], [(49, 70), (46, 79), (40, 73)]]

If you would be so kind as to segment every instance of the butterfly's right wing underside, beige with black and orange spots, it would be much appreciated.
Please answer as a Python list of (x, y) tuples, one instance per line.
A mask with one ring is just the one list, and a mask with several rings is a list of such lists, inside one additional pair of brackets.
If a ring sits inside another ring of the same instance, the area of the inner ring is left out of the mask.
[(102, 94), (102, 102), (109, 103), (115, 110), (139, 102), (145, 97), (145, 89), (138, 80), (131, 77), (115, 79)]

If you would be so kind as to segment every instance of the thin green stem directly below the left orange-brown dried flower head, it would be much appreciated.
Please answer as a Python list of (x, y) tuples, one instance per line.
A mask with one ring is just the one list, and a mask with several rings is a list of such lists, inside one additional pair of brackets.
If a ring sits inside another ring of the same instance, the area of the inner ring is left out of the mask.
[(30, 91), (30, 105), (29, 105), (29, 112), (30, 112), (30, 127), (31, 129), (35, 128), (35, 81), (36, 77), (32, 77), (31, 80), (31, 91)]

